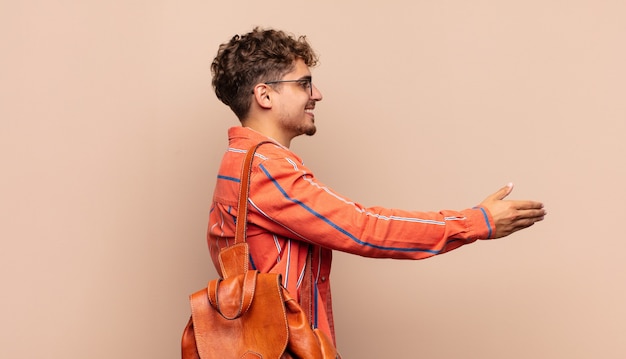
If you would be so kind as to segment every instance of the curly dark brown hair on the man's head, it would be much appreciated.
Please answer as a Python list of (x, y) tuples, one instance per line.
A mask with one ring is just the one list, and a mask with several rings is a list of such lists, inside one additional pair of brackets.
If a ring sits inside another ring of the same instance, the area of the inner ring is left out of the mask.
[(215, 94), (242, 120), (250, 109), (254, 86), (279, 80), (294, 69), (297, 58), (309, 67), (318, 63), (305, 36), (258, 27), (245, 35), (235, 35), (220, 45), (211, 64)]

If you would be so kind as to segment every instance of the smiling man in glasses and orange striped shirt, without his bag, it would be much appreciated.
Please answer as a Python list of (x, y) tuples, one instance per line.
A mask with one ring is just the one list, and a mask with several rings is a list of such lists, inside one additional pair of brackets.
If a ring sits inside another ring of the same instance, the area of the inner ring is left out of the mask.
[[(252, 169), (247, 242), (250, 265), (281, 273), (297, 298), (312, 249), (313, 323), (335, 338), (330, 292), (332, 251), (375, 258), (423, 259), (477, 239), (507, 236), (541, 221), (543, 205), (509, 201), (508, 185), (479, 206), (462, 211), (415, 212), (365, 208), (318, 182), (289, 150), (294, 137), (315, 134), (314, 109), (322, 94), (311, 81), (317, 56), (304, 37), (254, 29), (220, 46), (212, 64), (217, 97), (241, 127), (229, 129), (210, 211), (208, 243), (233, 243), (241, 166), (261, 141)], [(219, 270), (219, 268), (218, 268)]]

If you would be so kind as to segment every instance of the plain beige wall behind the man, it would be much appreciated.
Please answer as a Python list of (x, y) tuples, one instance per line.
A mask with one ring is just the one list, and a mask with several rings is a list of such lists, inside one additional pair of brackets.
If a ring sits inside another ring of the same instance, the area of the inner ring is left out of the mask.
[(346, 358), (625, 358), (626, 2), (1, 1), (0, 357), (176, 358), (225, 132), (217, 46), (307, 34), (293, 149), (365, 205), (508, 181), (548, 219), (420, 262), (337, 254)]

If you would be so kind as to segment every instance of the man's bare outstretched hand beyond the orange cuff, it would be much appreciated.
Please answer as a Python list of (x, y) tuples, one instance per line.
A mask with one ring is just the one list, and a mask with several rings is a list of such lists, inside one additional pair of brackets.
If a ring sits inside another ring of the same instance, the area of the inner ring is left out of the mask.
[(501, 238), (542, 221), (546, 215), (543, 204), (535, 201), (513, 201), (505, 198), (513, 191), (513, 184), (500, 188), (485, 198), (480, 206), (491, 213), (495, 233), (491, 238)]

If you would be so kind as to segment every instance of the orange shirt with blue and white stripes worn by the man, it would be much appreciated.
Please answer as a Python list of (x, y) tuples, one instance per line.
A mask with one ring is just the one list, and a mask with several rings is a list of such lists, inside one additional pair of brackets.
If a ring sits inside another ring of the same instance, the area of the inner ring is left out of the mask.
[[(207, 235), (218, 271), (219, 251), (234, 242), (245, 153), (271, 140), (245, 127), (229, 129), (228, 136)], [(281, 273), (283, 285), (296, 298), (312, 248), (312, 324), (333, 340), (329, 280), (333, 250), (374, 258), (423, 259), (489, 238), (494, 229), (493, 219), (480, 207), (440, 212), (364, 207), (317, 181), (296, 154), (278, 143), (262, 145), (255, 155), (248, 207), (251, 268)]]

